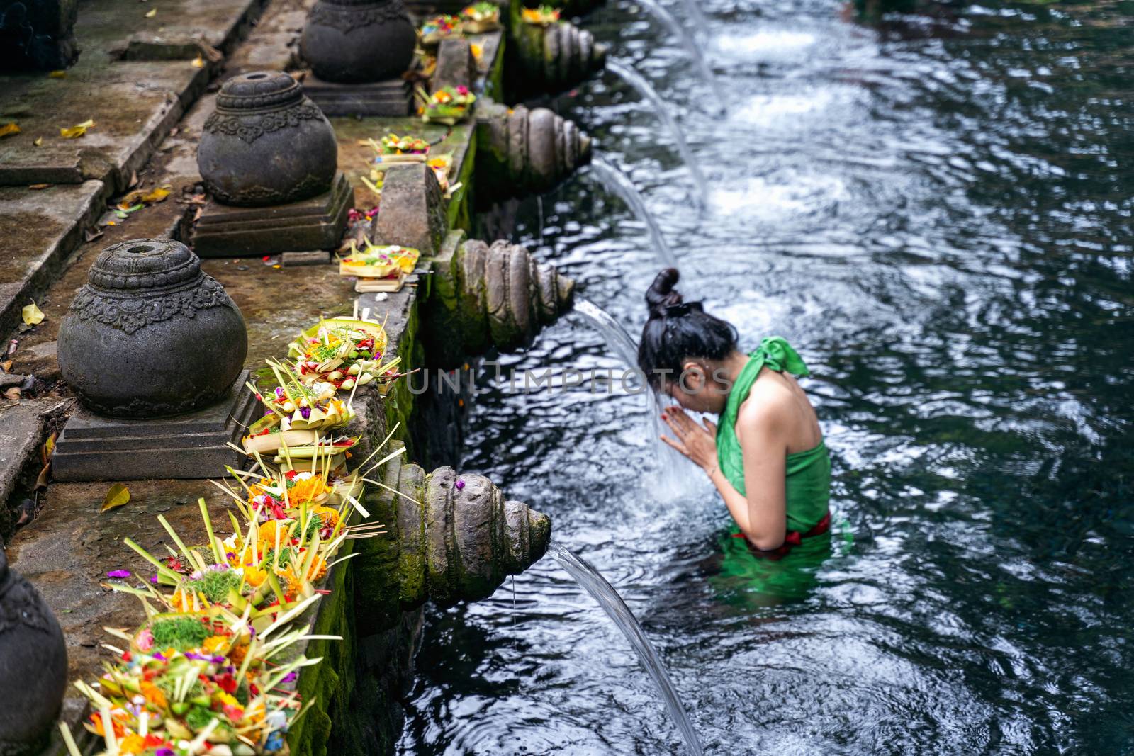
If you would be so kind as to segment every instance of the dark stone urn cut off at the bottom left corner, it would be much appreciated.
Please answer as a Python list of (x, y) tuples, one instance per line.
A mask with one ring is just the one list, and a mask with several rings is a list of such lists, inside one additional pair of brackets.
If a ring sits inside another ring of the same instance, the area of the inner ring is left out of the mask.
[(67, 646), (56, 615), (18, 572), (0, 542), (0, 754), (39, 753), (67, 689)]

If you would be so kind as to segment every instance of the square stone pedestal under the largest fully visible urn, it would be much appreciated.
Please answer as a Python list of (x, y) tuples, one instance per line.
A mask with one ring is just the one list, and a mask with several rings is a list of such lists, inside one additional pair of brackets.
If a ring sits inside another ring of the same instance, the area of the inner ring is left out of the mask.
[(64, 427), (51, 460), (56, 481), (149, 481), (217, 477), (236, 467), (238, 443), (260, 402), (244, 371), (222, 401), (161, 419), (105, 417), (81, 408)]

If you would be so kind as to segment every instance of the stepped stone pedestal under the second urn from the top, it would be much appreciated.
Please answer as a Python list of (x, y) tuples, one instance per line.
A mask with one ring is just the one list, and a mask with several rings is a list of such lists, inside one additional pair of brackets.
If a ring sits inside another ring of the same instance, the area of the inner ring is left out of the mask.
[(286, 205), (237, 207), (210, 201), (197, 219), (193, 249), (201, 257), (260, 257), (339, 246), (354, 204), (339, 172), (329, 192)]

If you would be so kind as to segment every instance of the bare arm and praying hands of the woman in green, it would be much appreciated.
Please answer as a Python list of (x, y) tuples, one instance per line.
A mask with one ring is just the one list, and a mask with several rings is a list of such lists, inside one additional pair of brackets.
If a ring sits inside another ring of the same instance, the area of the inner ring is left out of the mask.
[[(745, 408), (746, 409), (746, 408)], [(741, 530), (756, 549), (779, 549), (787, 532), (787, 447), (780, 432), (779, 413), (745, 411), (737, 417), (737, 438), (744, 453), (745, 498), (728, 482), (717, 462), (717, 426), (705, 421), (694, 423), (684, 410), (667, 408), (662, 418), (672, 428), (677, 441), (661, 440), (701, 466), (717, 486), (725, 506)]]

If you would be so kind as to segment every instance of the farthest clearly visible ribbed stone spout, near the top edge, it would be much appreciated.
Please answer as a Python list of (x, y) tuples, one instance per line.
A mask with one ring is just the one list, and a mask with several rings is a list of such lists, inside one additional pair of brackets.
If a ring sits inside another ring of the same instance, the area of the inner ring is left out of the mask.
[(602, 70), (607, 45), (568, 22), (549, 26), (521, 24), (515, 29), (519, 88), (553, 93), (582, 84)]

